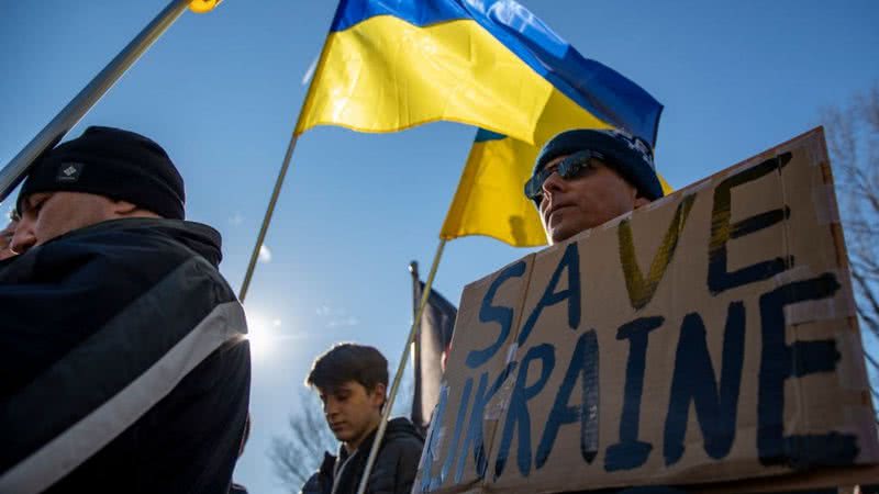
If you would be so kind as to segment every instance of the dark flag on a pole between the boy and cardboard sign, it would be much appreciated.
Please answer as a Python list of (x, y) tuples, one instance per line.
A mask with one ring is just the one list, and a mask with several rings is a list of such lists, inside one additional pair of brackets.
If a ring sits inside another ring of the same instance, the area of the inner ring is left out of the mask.
[[(410, 265), (414, 312), (424, 290), (424, 282), (418, 273), (418, 263)], [(427, 306), (421, 315), (421, 325), (415, 335), (415, 396), (412, 400), (412, 422), (426, 430), (431, 424), (431, 413), (439, 400), (439, 385), (443, 381), (446, 355), (452, 343), (452, 330), (458, 310), (435, 290), (431, 290)]]

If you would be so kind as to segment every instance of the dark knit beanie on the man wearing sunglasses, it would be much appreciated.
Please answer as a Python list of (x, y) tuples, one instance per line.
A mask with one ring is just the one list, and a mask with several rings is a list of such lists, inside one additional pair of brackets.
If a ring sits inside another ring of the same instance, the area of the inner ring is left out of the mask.
[(663, 186), (656, 176), (650, 146), (639, 137), (615, 130), (578, 128), (556, 135), (537, 155), (534, 175), (553, 159), (581, 150), (602, 153), (607, 157), (607, 165), (620, 172), (650, 201), (663, 197)]

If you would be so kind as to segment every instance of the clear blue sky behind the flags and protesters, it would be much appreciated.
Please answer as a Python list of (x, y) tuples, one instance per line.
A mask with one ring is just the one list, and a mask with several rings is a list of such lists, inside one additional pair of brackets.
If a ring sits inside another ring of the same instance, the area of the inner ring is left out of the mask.
[[(657, 164), (681, 188), (817, 124), (819, 110), (879, 80), (879, 3), (523, 0), (585, 56), (665, 106)], [(127, 43), (165, 0), (0, 2), (0, 164)], [(159, 142), (187, 182), (190, 220), (221, 231), (237, 288), (335, 4), (226, 0), (186, 13), (74, 130), (102, 124)], [(256, 335), (254, 431), (236, 479), (283, 492), (266, 457), (315, 355), (338, 340), (399, 359), (407, 271), (426, 272), (475, 130), (431, 124), (304, 134), (246, 308)], [(3, 211), (8, 204), (3, 205)], [(488, 238), (446, 246), (435, 287), (463, 287), (526, 251)], [(265, 338), (263, 338), (265, 341)]]

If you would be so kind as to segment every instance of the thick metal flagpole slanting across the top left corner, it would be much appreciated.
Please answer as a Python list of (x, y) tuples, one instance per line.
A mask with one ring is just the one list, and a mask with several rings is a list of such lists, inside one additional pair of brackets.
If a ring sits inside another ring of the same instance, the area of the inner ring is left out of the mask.
[(11, 161), (0, 170), (0, 202), (22, 181), (31, 165), (52, 148), (91, 110), (123, 74), (183, 13), (192, 0), (173, 0), (125, 46)]

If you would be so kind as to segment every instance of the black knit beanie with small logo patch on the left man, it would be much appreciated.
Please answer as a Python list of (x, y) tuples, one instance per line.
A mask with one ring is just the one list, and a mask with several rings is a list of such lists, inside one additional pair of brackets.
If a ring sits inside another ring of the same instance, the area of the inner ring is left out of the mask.
[(162, 217), (183, 220), (183, 179), (165, 149), (133, 132), (88, 127), (40, 157), (16, 207), (36, 192), (88, 192), (131, 202)]

